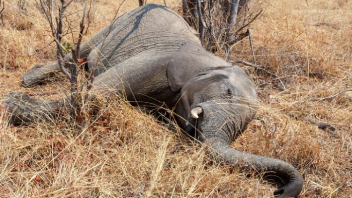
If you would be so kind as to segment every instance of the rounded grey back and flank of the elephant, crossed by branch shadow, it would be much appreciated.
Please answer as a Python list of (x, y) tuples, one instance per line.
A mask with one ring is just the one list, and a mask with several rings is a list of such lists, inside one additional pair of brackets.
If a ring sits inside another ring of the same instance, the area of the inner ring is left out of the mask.
[(89, 54), (89, 68), (98, 63), (99, 68), (109, 69), (141, 52), (150, 56), (173, 53), (187, 41), (200, 43), (177, 13), (153, 4), (124, 14), (96, 36), (100, 36), (101, 41)]

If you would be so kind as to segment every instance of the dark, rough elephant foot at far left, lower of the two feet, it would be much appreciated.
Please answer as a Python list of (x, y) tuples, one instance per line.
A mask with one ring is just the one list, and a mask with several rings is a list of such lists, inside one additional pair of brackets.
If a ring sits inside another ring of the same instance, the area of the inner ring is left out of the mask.
[(60, 104), (58, 101), (35, 99), (21, 92), (11, 92), (2, 107), (7, 108), (10, 123), (20, 125), (39, 119), (53, 119)]

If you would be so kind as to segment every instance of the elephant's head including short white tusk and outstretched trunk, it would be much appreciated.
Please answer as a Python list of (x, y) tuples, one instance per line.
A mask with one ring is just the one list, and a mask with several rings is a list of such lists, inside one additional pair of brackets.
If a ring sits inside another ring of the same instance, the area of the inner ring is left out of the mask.
[(296, 168), (278, 159), (236, 151), (229, 146), (254, 117), (257, 105), (255, 87), (249, 77), (237, 66), (226, 66), (192, 77), (181, 89), (175, 112), (180, 115), (178, 124), (209, 146), (216, 161), (274, 175), (284, 184), (274, 195), (295, 197), (303, 185)]

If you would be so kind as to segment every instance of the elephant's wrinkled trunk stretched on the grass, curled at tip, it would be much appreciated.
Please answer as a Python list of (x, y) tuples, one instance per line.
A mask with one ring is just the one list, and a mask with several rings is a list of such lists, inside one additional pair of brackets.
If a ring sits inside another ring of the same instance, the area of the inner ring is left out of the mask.
[(275, 197), (296, 197), (303, 187), (303, 178), (298, 170), (291, 164), (282, 160), (257, 156), (232, 149), (227, 140), (221, 140), (216, 137), (206, 139), (206, 144), (213, 151), (211, 156), (218, 162), (235, 165), (242, 170), (255, 169), (259, 172), (265, 172), (264, 178), (273, 178), (283, 184), (282, 187), (275, 190)]

